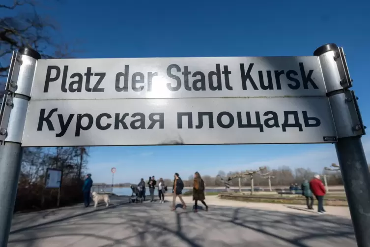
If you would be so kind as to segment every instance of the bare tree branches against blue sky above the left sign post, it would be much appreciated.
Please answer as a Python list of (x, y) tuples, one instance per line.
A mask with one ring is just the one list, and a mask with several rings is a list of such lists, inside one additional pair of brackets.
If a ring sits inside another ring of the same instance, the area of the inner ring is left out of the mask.
[(37, 0), (0, 4), (0, 98), (13, 51), (27, 47), (39, 52), (42, 58), (70, 57), (72, 50), (59, 42), (56, 24), (38, 13), (40, 7)]

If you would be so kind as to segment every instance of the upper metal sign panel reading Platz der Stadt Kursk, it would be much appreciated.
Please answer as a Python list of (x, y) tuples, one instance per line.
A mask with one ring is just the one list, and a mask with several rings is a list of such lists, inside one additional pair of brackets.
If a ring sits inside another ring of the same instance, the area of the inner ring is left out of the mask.
[(32, 99), (324, 96), (317, 57), (38, 60)]

